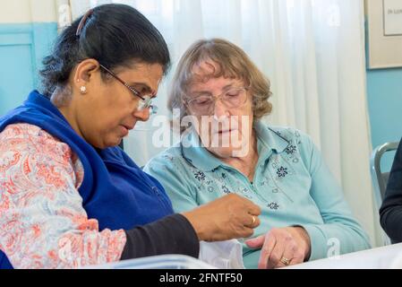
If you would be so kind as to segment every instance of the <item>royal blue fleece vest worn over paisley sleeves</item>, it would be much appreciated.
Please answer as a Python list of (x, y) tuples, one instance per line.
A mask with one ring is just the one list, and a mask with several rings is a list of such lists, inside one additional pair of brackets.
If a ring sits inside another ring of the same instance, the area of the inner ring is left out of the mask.
[[(32, 91), (19, 108), (0, 118), (0, 133), (15, 123), (39, 126), (78, 155), (84, 169), (78, 191), (88, 217), (98, 220), (99, 230), (131, 230), (173, 213), (158, 180), (144, 173), (120, 148), (99, 151), (85, 142), (38, 91)], [(0, 250), (0, 269), (4, 268), (13, 266)]]

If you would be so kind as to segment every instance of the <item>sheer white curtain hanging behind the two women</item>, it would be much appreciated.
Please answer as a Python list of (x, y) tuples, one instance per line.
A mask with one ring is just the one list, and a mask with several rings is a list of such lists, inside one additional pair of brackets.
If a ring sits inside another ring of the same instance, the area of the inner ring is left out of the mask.
[[(274, 111), (267, 123), (311, 135), (338, 178), (373, 245), (380, 242), (372, 201), (372, 151), (365, 88), (362, 0), (70, 1), (73, 18), (91, 5), (132, 4), (167, 39), (174, 63), (196, 39), (229, 39), (269, 77)], [(174, 70), (174, 69), (173, 69)], [(159, 91), (161, 114), (167, 85)], [(163, 147), (152, 145), (150, 123), (125, 142), (140, 165)]]

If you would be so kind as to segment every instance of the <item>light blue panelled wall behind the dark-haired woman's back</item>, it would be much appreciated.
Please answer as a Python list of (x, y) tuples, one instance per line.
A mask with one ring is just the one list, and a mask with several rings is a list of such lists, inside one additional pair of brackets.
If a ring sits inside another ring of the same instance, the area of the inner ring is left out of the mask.
[(38, 88), (38, 69), (57, 35), (57, 24), (0, 24), (0, 117)]

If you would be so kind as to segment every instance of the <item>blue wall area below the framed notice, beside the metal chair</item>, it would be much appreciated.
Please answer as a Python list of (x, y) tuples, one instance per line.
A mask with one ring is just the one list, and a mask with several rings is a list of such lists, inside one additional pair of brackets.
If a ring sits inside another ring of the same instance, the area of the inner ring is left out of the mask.
[[(367, 97), (373, 148), (402, 137), (402, 68), (367, 71)], [(389, 169), (393, 155), (384, 158)]]

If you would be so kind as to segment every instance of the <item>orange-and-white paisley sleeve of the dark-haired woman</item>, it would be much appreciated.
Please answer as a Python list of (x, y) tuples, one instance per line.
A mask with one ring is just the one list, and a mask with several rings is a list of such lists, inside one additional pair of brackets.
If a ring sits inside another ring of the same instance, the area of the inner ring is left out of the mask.
[(78, 193), (81, 161), (38, 126), (0, 134), (0, 249), (15, 268), (77, 268), (118, 261), (124, 230), (98, 230)]

